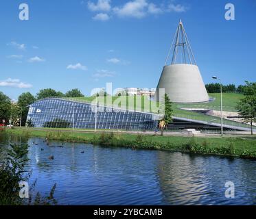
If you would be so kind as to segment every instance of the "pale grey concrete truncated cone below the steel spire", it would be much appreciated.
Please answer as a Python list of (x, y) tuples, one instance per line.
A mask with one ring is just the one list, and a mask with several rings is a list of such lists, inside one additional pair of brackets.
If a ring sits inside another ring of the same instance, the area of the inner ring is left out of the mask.
[(199, 103), (209, 101), (205, 83), (198, 66), (192, 64), (172, 64), (163, 67), (159, 88), (165, 88), (174, 103)]

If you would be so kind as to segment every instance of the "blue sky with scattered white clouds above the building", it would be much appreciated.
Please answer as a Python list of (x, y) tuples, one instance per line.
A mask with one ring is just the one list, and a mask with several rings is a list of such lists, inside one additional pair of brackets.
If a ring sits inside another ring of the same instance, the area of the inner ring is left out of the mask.
[[(19, 19), (27, 3), (29, 21)], [(226, 21), (226, 3), (235, 21)], [(256, 1), (1, 1), (0, 90), (155, 88), (179, 19), (205, 83), (256, 81)]]

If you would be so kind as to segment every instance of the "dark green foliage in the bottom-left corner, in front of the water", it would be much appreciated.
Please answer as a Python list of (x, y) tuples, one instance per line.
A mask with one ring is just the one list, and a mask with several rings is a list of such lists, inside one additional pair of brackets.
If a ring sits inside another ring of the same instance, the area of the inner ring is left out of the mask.
[(39, 193), (33, 198), (32, 193), (36, 182), (30, 188), (30, 198), (20, 198), (19, 183), (28, 181), (30, 174), (25, 174), (24, 166), (29, 160), (27, 158), (27, 144), (10, 144), (6, 158), (0, 164), (0, 205), (56, 205), (54, 198), (56, 184), (51, 188), (49, 196), (42, 197)]

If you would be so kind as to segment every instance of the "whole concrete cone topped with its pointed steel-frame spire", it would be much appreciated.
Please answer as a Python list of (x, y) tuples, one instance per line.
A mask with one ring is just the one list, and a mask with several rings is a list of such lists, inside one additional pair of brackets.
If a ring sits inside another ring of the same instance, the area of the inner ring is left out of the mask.
[[(171, 64), (167, 64), (172, 53)], [(200, 103), (209, 101), (209, 96), (196, 64), (187, 34), (180, 21), (172, 46), (165, 60), (165, 66), (156, 88), (154, 99), (159, 99), (159, 89), (174, 103)]]

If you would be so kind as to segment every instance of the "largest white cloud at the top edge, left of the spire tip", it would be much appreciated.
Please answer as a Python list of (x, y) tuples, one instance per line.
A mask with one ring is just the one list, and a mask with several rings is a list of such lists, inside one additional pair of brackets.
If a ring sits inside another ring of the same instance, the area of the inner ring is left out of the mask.
[(122, 7), (113, 8), (113, 11), (115, 14), (121, 17), (130, 16), (135, 18), (143, 18), (147, 14), (147, 8), (148, 3), (146, 0), (135, 0), (128, 1)]

